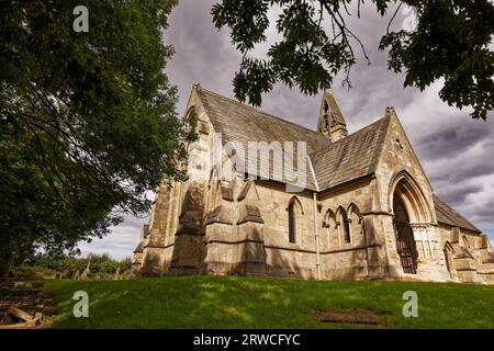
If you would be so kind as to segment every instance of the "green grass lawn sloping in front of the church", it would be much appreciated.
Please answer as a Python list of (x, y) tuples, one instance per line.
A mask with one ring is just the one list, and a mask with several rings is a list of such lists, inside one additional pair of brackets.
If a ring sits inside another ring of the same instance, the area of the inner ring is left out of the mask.
[[(378, 328), (494, 328), (494, 286), (167, 276), (116, 282), (47, 281), (53, 328), (375, 328), (318, 321), (317, 310), (373, 312)], [(89, 295), (89, 318), (72, 294)], [(405, 291), (418, 317), (402, 315)]]

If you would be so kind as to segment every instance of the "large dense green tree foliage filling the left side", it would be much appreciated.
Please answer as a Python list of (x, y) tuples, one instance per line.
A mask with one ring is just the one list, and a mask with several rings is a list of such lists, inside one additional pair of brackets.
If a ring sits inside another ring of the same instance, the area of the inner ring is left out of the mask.
[(74, 248), (183, 177), (193, 136), (161, 42), (176, 3), (89, 0), (89, 32), (76, 33), (78, 1), (2, 2), (0, 251)]

